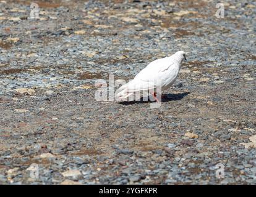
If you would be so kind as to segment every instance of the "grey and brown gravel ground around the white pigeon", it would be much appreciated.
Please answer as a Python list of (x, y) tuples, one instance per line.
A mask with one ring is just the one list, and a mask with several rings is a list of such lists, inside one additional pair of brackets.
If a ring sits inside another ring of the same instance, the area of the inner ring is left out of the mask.
[[(0, 1), (0, 184), (256, 183), (255, 1), (35, 2)], [(177, 50), (160, 108), (95, 100)]]

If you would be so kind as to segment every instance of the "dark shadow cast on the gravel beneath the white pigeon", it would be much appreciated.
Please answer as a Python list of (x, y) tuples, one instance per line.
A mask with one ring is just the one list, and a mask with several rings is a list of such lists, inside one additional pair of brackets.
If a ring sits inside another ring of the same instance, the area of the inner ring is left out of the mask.
[[(190, 92), (184, 92), (184, 93), (178, 93), (178, 94), (163, 94), (164, 98), (161, 98), (161, 102), (169, 102), (172, 100), (181, 100), (182, 98), (186, 97), (186, 95), (189, 95)], [(143, 98), (140, 98), (140, 100), (134, 100), (134, 101), (124, 101), (119, 102), (122, 105), (134, 105), (139, 103), (152, 103), (155, 101), (151, 101), (149, 98), (147, 100), (143, 100)]]

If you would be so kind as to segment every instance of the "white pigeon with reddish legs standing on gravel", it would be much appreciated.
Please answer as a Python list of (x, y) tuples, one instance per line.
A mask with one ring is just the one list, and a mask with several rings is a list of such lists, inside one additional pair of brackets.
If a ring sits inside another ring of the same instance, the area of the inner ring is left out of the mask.
[[(117, 101), (127, 100), (141, 91), (150, 92), (158, 102), (156, 94), (171, 87), (179, 74), (181, 63), (186, 60), (185, 52), (178, 51), (170, 57), (161, 58), (148, 64), (132, 81), (127, 82), (119, 89), (115, 96)], [(160, 92), (158, 92), (160, 90)]]

